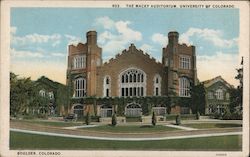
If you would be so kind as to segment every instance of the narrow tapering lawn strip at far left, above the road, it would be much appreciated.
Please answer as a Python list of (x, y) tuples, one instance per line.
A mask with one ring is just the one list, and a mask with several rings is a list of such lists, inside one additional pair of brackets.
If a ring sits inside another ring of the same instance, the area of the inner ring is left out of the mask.
[(76, 122), (50, 122), (50, 121), (38, 121), (38, 120), (11, 120), (16, 122), (26, 122), (32, 124), (39, 124), (45, 126), (55, 126), (55, 127), (68, 127), (68, 126), (78, 126), (83, 125), (83, 123), (76, 123)]

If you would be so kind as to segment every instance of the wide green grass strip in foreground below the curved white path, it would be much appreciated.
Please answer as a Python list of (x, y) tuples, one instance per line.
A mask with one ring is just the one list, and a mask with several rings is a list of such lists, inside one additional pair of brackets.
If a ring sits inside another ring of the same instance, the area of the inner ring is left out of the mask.
[(216, 150), (241, 151), (242, 136), (219, 136), (159, 141), (108, 141), (10, 132), (10, 149), (44, 150)]

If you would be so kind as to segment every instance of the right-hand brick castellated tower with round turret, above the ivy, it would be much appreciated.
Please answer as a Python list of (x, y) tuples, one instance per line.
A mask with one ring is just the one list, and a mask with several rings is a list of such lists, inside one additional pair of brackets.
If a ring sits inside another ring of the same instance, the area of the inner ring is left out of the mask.
[(178, 32), (169, 32), (168, 45), (162, 52), (162, 64), (168, 74), (167, 91), (169, 96), (190, 97), (184, 89), (197, 82), (195, 47), (179, 44), (178, 40)]

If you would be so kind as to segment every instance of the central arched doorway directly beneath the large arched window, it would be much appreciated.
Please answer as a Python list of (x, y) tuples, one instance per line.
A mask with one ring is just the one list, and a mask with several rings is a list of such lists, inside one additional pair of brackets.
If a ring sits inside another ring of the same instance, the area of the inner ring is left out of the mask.
[(127, 117), (140, 117), (142, 115), (142, 108), (140, 104), (130, 103), (125, 107), (125, 115)]

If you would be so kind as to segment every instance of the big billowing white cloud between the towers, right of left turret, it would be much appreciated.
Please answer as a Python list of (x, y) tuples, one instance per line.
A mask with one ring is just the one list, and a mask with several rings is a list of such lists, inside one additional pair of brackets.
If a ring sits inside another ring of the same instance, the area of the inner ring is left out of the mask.
[(141, 32), (130, 28), (130, 21), (114, 21), (107, 16), (97, 18), (95, 21), (95, 25), (105, 29), (100, 33), (98, 43), (108, 56), (125, 49), (129, 43), (142, 40)]

